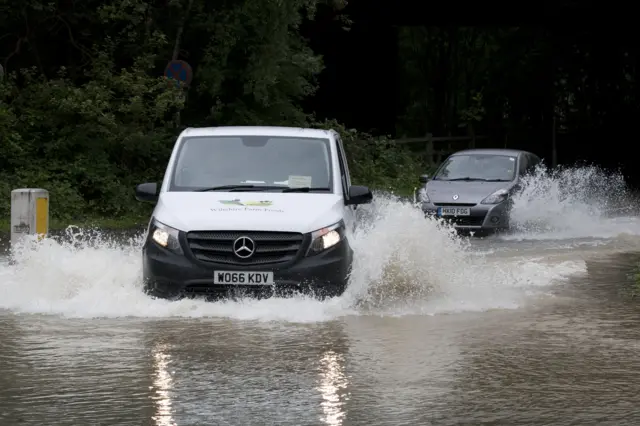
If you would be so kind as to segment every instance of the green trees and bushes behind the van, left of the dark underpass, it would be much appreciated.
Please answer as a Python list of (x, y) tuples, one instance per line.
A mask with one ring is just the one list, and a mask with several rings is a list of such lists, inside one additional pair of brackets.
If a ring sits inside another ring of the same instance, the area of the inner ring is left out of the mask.
[[(300, 104), (323, 63), (299, 29), (345, 2), (14, 3), (0, 0), (0, 217), (12, 189), (42, 187), (54, 220), (81, 223), (148, 215), (133, 189), (162, 178), (186, 126), (311, 122)], [(162, 77), (174, 55), (192, 66), (191, 87)], [(385, 137), (314, 125), (341, 133), (359, 183), (408, 195), (425, 172)]]

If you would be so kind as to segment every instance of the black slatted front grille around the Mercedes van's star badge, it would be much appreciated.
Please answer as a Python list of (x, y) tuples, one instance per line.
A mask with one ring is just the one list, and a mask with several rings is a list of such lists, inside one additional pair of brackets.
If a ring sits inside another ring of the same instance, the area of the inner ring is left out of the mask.
[[(255, 252), (241, 259), (233, 252), (237, 238), (249, 237)], [(304, 236), (294, 232), (195, 231), (187, 233), (189, 249), (196, 259), (226, 265), (273, 265), (293, 260), (302, 249)]]

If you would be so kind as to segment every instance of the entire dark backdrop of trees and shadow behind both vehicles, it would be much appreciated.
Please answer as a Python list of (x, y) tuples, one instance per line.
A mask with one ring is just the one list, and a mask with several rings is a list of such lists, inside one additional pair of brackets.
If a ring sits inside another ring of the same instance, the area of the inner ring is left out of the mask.
[[(635, 17), (621, 2), (0, 0), (0, 215), (12, 189), (43, 187), (60, 219), (145, 217), (133, 188), (162, 178), (187, 126), (356, 129), (354, 179), (398, 193), (433, 164), (424, 143), (377, 137), (482, 136), (637, 188)], [(163, 77), (172, 59), (189, 85)]]

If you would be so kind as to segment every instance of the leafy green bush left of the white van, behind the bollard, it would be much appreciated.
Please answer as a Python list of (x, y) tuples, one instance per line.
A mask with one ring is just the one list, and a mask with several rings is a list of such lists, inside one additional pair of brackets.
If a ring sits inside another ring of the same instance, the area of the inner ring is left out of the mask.
[(64, 219), (145, 208), (131, 205), (131, 188), (161, 176), (182, 95), (149, 77), (142, 60), (119, 72), (106, 57), (95, 66), (82, 85), (64, 70), (45, 79), (35, 69), (0, 85), (0, 135), (9, 136), (0, 144), (2, 214), (16, 187), (48, 189)]

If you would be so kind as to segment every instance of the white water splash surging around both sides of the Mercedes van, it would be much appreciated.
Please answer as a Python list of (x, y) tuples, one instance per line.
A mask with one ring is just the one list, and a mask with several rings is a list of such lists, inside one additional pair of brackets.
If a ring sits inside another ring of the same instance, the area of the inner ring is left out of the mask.
[(584, 262), (491, 259), (453, 229), (407, 202), (380, 195), (358, 209), (356, 252), (340, 298), (164, 301), (142, 292), (142, 235), (109, 237), (70, 228), (60, 238), (28, 240), (14, 265), (0, 265), (0, 309), (67, 317), (227, 317), (316, 322), (344, 315), (437, 314), (517, 308)]

